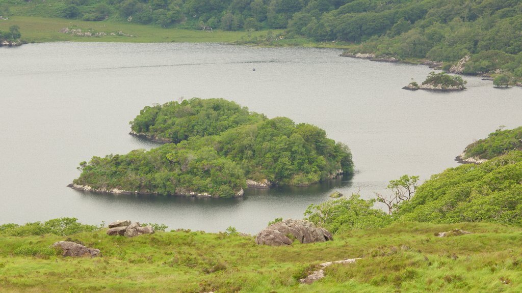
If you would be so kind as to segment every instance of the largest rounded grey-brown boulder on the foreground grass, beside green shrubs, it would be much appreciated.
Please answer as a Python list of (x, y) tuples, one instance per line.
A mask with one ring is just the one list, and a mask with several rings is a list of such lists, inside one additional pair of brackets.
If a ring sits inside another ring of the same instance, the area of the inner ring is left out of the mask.
[(287, 219), (263, 229), (256, 236), (257, 244), (282, 246), (291, 245), (294, 240), (301, 243), (334, 240), (331, 233), (316, 227), (306, 220)]

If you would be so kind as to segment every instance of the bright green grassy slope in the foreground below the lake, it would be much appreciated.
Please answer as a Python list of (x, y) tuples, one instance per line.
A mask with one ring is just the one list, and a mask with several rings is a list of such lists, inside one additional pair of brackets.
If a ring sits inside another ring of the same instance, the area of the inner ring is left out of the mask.
[[(456, 227), (474, 234), (434, 236)], [(45, 249), (65, 237), (2, 237), (0, 291), (520, 292), (521, 232), (491, 224), (407, 223), (290, 247), (192, 231), (131, 239), (104, 231), (71, 236), (102, 251), (92, 259), (33, 256), (23, 249)], [(363, 260), (330, 266), (312, 285), (298, 283), (313, 265), (355, 257)]]

